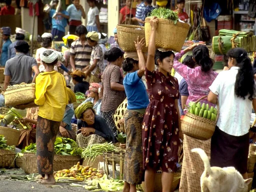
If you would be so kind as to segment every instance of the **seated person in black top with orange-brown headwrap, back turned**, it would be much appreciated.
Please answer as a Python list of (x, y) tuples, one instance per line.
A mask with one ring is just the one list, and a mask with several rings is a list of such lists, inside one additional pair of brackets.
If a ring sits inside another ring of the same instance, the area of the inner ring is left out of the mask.
[(72, 82), (74, 83), (74, 92), (85, 93), (89, 89), (89, 83), (87, 81), (83, 81), (86, 75), (79, 70), (75, 70), (71, 73)]

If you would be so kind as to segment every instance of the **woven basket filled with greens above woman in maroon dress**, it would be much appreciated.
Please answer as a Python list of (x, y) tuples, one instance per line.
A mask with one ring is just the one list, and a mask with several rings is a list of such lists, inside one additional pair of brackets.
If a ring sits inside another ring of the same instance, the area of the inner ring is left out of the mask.
[[(145, 38), (148, 46), (151, 35), (150, 17), (145, 19)], [(158, 18), (155, 44), (156, 48), (180, 52), (189, 31), (189, 25), (182, 22), (174, 24), (172, 20)], [(119, 37), (118, 37), (119, 39)]]

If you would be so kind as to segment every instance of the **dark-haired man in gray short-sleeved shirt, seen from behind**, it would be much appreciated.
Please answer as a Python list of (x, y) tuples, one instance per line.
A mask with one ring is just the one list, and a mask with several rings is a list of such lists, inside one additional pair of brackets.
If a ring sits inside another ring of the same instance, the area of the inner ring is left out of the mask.
[[(36, 59), (26, 56), (29, 45), (26, 41), (18, 41), (16, 46), (16, 56), (7, 60), (4, 69), (4, 91), (8, 85), (20, 83), (35, 83), (36, 76), (39, 74)], [(32, 79), (32, 70), (35, 75)]]

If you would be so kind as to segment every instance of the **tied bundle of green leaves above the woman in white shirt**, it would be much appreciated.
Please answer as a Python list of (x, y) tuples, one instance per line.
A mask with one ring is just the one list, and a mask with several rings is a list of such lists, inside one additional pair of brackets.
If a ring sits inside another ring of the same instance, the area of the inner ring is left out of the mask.
[(240, 47), (247, 52), (256, 50), (256, 36), (251, 32), (228, 29), (219, 30), (219, 36), (212, 38), (212, 50), (217, 55), (224, 55), (229, 49)]

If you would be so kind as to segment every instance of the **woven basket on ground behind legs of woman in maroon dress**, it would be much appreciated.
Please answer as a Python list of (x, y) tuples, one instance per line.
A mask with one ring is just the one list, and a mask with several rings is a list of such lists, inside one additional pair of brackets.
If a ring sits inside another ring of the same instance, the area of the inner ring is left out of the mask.
[[(179, 185), (181, 173), (174, 173), (171, 192), (173, 192)], [(143, 192), (146, 192), (145, 182), (141, 184)], [(154, 192), (162, 192), (162, 171), (157, 171), (155, 178)]]

